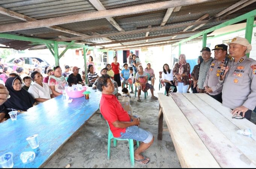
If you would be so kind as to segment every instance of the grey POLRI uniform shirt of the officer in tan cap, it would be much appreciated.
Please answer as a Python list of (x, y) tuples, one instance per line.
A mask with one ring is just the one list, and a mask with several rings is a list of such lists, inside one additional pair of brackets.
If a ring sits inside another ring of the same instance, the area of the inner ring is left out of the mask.
[(244, 106), (253, 110), (256, 106), (256, 61), (245, 55), (237, 63), (230, 62), (229, 67), (222, 90), (223, 105), (230, 109)]

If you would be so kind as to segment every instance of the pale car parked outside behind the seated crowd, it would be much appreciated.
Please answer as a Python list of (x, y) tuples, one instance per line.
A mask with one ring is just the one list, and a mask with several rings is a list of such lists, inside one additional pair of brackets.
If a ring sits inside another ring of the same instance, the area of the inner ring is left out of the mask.
[(36, 60), (38, 60), (40, 62), (40, 66), (42, 67), (42, 70), (44, 71), (45, 66), (52, 66), (54, 67), (55, 65), (52, 64), (54, 63), (54, 58), (52, 58), (51, 60), (46, 60), (45, 57), (42, 56), (28, 56), (28, 55), (14, 55), (9, 57), (9, 60), (6, 61), (7, 66), (9, 67), (13, 67), (14, 66), (14, 60), (18, 59), (18, 58), (24, 58), (25, 60), (25, 64), (28, 67), (31, 67), (32, 69), (35, 67), (35, 65), (32, 63), (32, 59), (35, 58)]

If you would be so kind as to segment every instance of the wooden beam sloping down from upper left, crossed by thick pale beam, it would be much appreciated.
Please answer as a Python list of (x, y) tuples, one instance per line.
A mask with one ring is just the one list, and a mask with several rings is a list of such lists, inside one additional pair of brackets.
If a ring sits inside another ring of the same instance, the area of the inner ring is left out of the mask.
[[(11, 16), (12, 18), (16, 18), (16, 19), (20, 19), (22, 21), (26, 21), (26, 22), (38, 21), (37, 19), (31, 18), (31, 17), (26, 16), (26, 15), (22, 15), (18, 12), (14, 12), (12, 10), (3, 8), (1, 6), (0, 6), (0, 13), (3, 14), (3, 15)], [(49, 26), (47, 28), (57, 30), (57, 31), (61, 31), (61, 32), (64, 32), (64, 33), (68, 33), (68, 34), (74, 34), (76, 36), (89, 36), (87, 34), (83, 34), (83, 33), (79, 33), (79, 32), (76, 32), (76, 31), (68, 30), (68, 29), (65, 29), (65, 28), (58, 27), (58, 26)]]

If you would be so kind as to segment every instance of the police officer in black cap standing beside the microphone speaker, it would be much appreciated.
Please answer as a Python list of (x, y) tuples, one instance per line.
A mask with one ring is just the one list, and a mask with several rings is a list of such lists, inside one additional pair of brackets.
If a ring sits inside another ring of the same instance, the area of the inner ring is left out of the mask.
[(223, 85), (219, 83), (219, 76), (222, 71), (221, 66), (224, 66), (224, 61), (227, 56), (227, 45), (216, 45), (212, 51), (214, 51), (214, 60), (207, 72), (203, 87), (206, 93), (209, 93), (211, 97), (222, 103), (221, 91)]

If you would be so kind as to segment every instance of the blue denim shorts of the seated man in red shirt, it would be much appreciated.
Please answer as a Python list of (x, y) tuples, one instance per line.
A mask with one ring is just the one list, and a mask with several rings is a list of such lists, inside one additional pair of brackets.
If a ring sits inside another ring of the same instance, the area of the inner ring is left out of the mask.
[(149, 143), (153, 138), (153, 135), (150, 132), (141, 129), (138, 126), (127, 127), (125, 133), (121, 132), (120, 134), (120, 139), (133, 139), (144, 143)]

